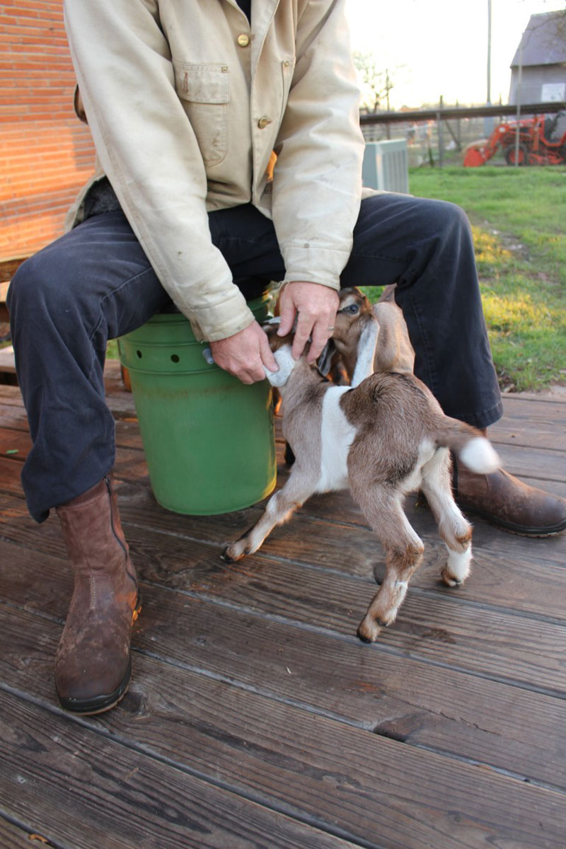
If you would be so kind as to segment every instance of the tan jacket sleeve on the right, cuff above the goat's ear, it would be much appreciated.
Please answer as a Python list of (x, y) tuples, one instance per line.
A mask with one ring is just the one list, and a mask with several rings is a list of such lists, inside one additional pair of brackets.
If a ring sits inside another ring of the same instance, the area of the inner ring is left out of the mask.
[(364, 150), (344, 8), (344, 0), (304, 3), (272, 184), (285, 279), (335, 289), (360, 211)]

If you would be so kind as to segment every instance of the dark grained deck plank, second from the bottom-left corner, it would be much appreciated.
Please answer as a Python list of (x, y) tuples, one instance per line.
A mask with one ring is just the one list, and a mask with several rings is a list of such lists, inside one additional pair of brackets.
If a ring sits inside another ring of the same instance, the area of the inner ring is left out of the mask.
[(58, 846), (351, 846), (2, 691), (0, 752), (3, 806)]

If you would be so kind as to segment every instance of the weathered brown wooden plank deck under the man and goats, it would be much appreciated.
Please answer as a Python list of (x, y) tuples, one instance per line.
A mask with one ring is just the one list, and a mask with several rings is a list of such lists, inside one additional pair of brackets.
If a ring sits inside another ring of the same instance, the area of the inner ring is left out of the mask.
[[(473, 574), (448, 590), (433, 520), (409, 499), (424, 565), (363, 645), (383, 559), (350, 498), (311, 499), (226, 565), (222, 543), (258, 508), (157, 506), (115, 368), (108, 390), (143, 611), (126, 698), (77, 718), (53, 692), (72, 579), (57, 520), (26, 513), (25, 413), (0, 386), (0, 846), (566, 846), (566, 536), (477, 520)], [(492, 436), (507, 469), (563, 494), (566, 398), (505, 407)]]

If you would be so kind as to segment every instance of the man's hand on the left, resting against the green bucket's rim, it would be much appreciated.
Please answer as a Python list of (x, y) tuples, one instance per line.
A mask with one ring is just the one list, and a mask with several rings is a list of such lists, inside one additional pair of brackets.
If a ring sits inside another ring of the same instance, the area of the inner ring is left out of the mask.
[(267, 335), (256, 321), (227, 339), (210, 342), (210, 351), (216, 365), (242, 383), (265, 380), (264, 366), (270, 371), (279, 370)]

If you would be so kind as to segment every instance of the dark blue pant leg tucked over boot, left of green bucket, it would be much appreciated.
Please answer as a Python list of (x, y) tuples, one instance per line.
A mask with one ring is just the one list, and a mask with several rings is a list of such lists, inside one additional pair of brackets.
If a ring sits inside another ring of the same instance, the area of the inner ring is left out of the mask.
[(120, 211), (88, 219), (15, 274), (8, 309), (33, 441), (22, 486), (37, 521), (112, 468), (115, 424), (104, 402), (106, 343), (139, 327), (167, 302)]

